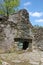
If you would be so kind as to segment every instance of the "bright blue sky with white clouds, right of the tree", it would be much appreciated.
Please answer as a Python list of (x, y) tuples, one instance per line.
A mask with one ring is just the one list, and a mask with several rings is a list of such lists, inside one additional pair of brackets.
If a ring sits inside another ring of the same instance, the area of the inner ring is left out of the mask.
[(20, 9), (29, 12), (32, 25), (43, 26), (43, 0), (21, 0)]

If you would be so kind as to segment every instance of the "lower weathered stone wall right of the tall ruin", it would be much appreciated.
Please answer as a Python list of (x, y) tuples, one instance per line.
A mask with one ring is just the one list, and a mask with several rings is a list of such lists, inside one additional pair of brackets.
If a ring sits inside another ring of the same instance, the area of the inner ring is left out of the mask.
[(43, 28), (34, 28), (35, 45), (39, 50), (43, 50)]

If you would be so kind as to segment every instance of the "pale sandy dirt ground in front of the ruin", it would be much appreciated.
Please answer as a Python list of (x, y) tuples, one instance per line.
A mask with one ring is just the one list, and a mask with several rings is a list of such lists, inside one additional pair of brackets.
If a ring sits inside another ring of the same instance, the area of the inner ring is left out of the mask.
[(43, 65), (43, 51), (0, 54), (0, 65)]

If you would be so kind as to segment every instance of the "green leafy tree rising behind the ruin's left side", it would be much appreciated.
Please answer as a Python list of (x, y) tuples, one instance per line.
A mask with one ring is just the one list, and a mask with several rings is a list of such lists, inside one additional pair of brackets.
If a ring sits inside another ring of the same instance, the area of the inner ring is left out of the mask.
[(0, 14), (9, 17), (10, 14), (16, 11), (19, 5), (20, 0), (3, 0), (3, 2), (0, 3)]

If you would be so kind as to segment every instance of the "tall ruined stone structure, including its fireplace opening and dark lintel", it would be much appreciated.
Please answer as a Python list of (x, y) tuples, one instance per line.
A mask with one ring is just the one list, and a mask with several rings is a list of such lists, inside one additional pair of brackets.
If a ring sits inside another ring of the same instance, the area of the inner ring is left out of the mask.
[(32, 50), (32, 25), (29, 13), (22, 9), (9, 16), (0, 16), (0, 52)]

